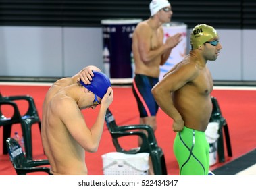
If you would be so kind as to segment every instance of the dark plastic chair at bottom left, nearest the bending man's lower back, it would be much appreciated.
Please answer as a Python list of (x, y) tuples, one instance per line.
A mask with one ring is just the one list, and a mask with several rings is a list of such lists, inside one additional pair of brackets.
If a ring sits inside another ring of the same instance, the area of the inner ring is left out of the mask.
[(34, 172), (45, 172), (50, 175), (49, 167), (39, 167), (42, 165), (49, 165), (47, 159), (28, 160), (20, 144), (14, 138), (7, 138), (6, 145), (9, 152), (9, 157), (17, 175), (27, 175)]

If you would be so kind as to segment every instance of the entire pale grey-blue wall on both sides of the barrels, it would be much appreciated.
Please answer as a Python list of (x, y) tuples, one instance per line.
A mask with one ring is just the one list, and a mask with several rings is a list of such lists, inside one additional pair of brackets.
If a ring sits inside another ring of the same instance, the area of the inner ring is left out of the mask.
[[(217, 32), (223, 49), (207, 63), (213, 80), (256, 81), (256, 30)], [(0, 76), (72, 76), (86, 65), (103, 70), (102, 45), (101, 28), (1, 26)]]

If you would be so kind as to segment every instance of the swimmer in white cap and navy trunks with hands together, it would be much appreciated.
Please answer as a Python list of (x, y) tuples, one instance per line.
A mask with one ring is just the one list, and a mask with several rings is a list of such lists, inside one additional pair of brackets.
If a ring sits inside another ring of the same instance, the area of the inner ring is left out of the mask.
[[(147, 124), (155, 131), (155, 116), (159, 107), (151, 94), (151, 88), (159, 81), (160, 65), (166, 63), (172, 49), (180, 43), (181, 34), (171, 36), (163, 43), (162, 25), (172, 18), (171, 5), (167, 0), (152, 0), (149, 9), (151, 17), (138, 23), (132, 36), (135, 63), (132, 91), (140, 113), (140, 124)], [(138, 144), (141, 145), (140, 138)], [(149, 169), (149, 175), (153, 175), (152, 169)]]

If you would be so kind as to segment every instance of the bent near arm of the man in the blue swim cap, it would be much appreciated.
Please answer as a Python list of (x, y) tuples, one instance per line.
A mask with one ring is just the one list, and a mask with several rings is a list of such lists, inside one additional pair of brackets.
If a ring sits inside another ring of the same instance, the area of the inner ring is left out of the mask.
[[(99, 114), (95, 124), (93, 124), (91, 128), (88, 128), (80, 109), (74, 101), (64, 102), (65, 105), (59, 107), (59, 109), (62, 107), (61, 113), (59, 113), (61, 121), (65, 124), (74, 140), (76, 140), (85, 151), (91, 153), (97, 151), (103, 132), (105, 113), (112, 101), (113, 90), (109, 87), (107, 93), (101, 100)], [(63, 109), (63, 107), (66, 108)], [(90, 117), (90, 115), (88, 115), (88, 117)]]

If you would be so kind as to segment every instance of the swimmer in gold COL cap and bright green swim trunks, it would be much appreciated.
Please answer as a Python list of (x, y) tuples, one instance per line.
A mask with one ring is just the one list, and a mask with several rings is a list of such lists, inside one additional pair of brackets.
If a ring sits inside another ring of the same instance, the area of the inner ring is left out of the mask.
[(174, 154), (180, 175), (208, 175), (209, 143), (205, 130), (212, 111), (213, 79), (207, 61), (222, 49), (216, 30), (199, 24), (190, 35), (191, 51), (151, 90), (157, 104), (173, 119)]

